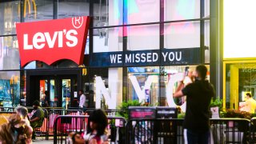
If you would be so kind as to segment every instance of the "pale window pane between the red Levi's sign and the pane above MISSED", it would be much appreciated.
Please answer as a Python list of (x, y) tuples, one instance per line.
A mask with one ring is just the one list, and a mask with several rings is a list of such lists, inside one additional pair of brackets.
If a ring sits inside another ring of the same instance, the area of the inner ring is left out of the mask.
[(122, 27), (94, 30), (94, 53), (122, 51)]

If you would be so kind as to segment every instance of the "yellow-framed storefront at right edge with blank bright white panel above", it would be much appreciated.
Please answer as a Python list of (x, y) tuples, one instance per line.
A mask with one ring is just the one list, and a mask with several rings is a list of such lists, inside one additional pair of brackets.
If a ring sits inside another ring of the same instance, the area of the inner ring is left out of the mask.
[[(226, 109), (238, 110), (239, 102), (246, 100), (246, 93), (256, 98), (255, 6), (254, 0), (222, 2), (223, 100)], [(240, 18), (250, 21), (244, 22)]]

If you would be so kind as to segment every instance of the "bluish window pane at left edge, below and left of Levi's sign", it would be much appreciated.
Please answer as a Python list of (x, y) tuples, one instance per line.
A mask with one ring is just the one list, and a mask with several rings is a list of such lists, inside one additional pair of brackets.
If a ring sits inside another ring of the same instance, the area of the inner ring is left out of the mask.
[(13, 107), (20, 103), (20, 72), (0, 72), (0, 106)]

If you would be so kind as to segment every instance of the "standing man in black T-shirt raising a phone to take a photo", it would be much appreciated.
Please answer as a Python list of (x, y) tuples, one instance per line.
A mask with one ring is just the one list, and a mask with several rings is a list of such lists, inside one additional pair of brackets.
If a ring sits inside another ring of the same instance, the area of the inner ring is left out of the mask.
[(210, 138), (209, 106), (210, 99), (215, 93), (214, 87), (206, 80), (206, 73), (206, 66), (197, 66), (193, 73), (195, 81), (183, 89), (184, 83), (180, 82), (174, 94), (174, 98), (186, 95), (186, 115), (183, 127), (189, 144), (208, 143)]

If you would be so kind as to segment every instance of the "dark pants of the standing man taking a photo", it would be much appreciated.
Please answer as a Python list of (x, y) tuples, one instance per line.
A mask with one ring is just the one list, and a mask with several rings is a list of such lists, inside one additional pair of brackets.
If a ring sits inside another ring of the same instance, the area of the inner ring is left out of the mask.
[(208, 144), (210, 139), (210, 131), (194, 131), (186, 130), (188, 144)]

